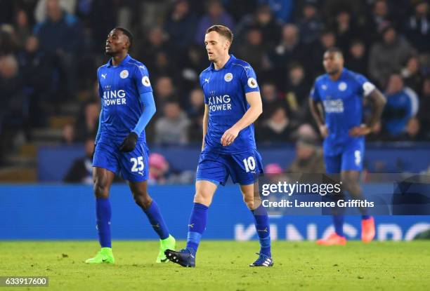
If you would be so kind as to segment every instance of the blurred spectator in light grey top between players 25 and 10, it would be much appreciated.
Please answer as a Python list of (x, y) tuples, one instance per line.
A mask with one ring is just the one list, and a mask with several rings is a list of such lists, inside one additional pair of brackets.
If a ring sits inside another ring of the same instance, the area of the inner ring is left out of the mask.
[(178, 102), (169, 100), (164, 105), (164, 116), (155, 122), (157, 144), (186, 144), (190, 120), (179, 107)]

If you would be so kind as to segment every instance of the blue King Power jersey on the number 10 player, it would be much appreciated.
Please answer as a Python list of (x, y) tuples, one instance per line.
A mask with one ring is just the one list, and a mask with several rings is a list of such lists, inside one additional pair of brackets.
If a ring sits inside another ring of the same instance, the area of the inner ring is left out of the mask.
[(237, 154), (256, 149), (254, 125), (244, 128), (233, 144), (223, 147), (221, 137), (239, 121), (249, 109), (246, 93), (259, 91), (254, 69), (234, 55), (221, 69), (212, 63), (200, 74), (200, 86), (204, 92), (204, 103), (209, 106), (205, 150), (219, 154)]

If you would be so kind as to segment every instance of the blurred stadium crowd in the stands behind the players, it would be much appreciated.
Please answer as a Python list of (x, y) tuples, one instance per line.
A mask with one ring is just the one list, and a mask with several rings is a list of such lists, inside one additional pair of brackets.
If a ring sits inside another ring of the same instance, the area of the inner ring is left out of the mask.
[(32, 129), (48, 127), (67, 107), (77, 110), (64, 126), (64, 142), (95, 135), (96, 70), (107, 62), (105, 38), (115, 26), (131, 29), (131, 54), (150, 72), (157, 114), (149, 142), (201, 142), (198, 76), (209, 65), (203, 40), (214, 24), (233, 29), (231, 51), (256, 70), (264, 109), (257, 141), (317, 136), (308, 93), (331, 46), (386, 95), (382, 123), (369, 140), (430, 140), (428, 1), (0, 0), (0, 6), (3, 153), (17, 134), (32, 140)]

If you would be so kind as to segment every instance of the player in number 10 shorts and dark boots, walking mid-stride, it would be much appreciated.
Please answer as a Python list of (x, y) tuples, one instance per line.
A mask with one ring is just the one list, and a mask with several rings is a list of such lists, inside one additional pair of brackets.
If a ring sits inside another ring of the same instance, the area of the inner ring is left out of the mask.
[(262, 165), (252, 124), (263, 110), (261, 96), (254, 69), (228, 54), (232, 41), (233, 33), (223, 25), (209, 27), (204, 36), (211, 65), (200, 74), (205, 107), (194, 207), (186, 248), (166, 251), (167, 258), (181, 266), (195, 266), (209, 205), (216, 188), (224, 185), (228, 176), (240, 184), (244, 201), (254, 215), (261, 248), (250, 266), (273, 266), (268, 215), (258, 195), (257, 175)]

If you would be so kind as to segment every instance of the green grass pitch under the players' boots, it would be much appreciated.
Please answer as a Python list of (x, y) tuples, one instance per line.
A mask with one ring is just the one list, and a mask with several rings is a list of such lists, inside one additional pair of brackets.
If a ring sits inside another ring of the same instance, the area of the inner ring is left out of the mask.
[[(178, 243), (182, 247), (183, 241)], [(0, 276), (48, 276), (3, 290), (430, 290), (430, 241), (273, 243), (272, 268), (251, 268), (257, 241), (203, 241), (197, 267), (155, 264), (156, 241), (114, 241), (115, 265), (88, 265), (96, 241), (0, 242)]]

